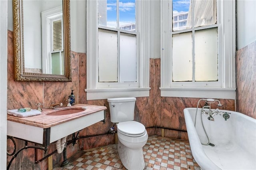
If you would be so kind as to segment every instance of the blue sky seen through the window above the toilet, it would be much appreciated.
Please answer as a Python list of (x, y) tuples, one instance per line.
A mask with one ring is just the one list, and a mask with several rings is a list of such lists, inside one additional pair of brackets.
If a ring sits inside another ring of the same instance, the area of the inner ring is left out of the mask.
[[(116, 22), (116, 0), (107, 0), (108, 24)], [(135, 0), (119, 0), (120, 26), (135, 22)]]

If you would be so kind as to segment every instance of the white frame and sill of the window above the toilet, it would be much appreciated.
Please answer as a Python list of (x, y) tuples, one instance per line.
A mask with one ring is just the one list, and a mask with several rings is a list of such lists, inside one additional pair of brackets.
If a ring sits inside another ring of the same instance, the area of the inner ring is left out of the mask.
[[(139, 35), (138, 87), (98, 88), (98, 1), (86, 1), (86, 55), (87, 89), (86, 99), (108, 99), (112, 97), (148, 97), (149, 96), (149, 2), (136, 0), (136, 27)], [(138, 47), (138, 46), (137, 46)]]

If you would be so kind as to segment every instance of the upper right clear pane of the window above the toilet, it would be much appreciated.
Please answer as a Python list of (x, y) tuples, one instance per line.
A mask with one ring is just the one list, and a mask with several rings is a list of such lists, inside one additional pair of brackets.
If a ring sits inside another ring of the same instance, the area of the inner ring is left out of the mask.
[(135, 0), (119, 0), (119, 28), (135, 31)]

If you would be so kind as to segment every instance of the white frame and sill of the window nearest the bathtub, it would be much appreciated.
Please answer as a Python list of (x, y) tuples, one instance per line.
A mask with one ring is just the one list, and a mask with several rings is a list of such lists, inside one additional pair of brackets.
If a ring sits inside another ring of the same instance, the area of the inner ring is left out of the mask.
[[(172, 82), (172, 1), (161, 0), (161, 96), (236, 99), (235, 2), (217, 0), (219, 82)], [(209, 26), (210, 28), (211, 26)], [(198, 86), (200, 84), (200, 86)]]

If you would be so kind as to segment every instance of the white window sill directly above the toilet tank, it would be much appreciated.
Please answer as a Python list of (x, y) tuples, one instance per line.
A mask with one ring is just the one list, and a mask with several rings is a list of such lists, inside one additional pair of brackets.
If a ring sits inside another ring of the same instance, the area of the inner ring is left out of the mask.
[(85, 89), (87, 100), (108, 99), (116, 97), (148, 97), (150, 87), (116, 88), (116, 89)]

